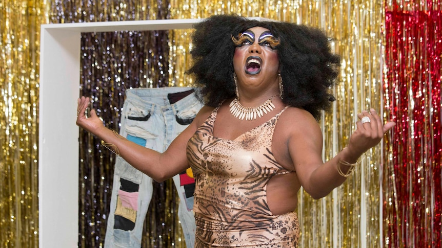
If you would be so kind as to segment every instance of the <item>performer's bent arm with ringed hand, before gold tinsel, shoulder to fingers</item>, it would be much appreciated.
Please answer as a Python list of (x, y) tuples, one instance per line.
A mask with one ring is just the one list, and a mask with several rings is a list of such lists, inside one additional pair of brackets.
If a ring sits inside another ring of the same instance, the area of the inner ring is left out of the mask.
[[(328, 195), (344, 183), (354, 163), (371, 147), (376, 146), (384, 134), (395, 123), (385, 125), (374, 109), (358, 114), (356, 130), (351, 134), (349, 144), (331, 160), (323, 163), (323, 137), (316, 121), (304, 116), (297, 129), (291, 133), (289, 152), (303, 188), (315, 199)], [(362, 123), (360, 120), (370, 120)]]

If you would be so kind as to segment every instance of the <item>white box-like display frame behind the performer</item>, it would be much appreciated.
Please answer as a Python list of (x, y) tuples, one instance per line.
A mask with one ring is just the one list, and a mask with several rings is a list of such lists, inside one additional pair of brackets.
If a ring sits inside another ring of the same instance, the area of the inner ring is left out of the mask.
[(81, 33), (191, 29), (202, 19), (84, 22), (41, 26), (38, 134), (39, 247), (78, 247)]

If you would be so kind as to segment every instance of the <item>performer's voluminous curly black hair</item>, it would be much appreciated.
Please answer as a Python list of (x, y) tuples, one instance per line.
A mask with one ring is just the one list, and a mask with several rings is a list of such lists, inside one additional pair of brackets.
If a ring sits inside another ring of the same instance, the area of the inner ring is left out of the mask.
[(318, 120), (329, 110), (334, 97), (329, 88), (338, 75), (340, 58), (332, 54), (327, 35), (313, 27), (288, 22), (260, 21), (237, 15), (214, 15), (195, 24), (190, 54), (193, 65), (187, 73), (195, 76), (197, 98), (216, 107), (235, 96), (232, 36), (252, 28), (269, 29), (279, 39), (280, 75), (284, 104), (303, 108)]

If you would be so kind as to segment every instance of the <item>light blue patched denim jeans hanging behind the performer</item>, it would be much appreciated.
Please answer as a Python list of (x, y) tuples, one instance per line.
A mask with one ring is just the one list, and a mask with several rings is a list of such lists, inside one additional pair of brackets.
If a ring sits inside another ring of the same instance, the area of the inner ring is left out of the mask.
[[(193, 88), (136, 88), (126, 91), (120, 134), (128, 140), (163, 152), (195, 118), (203, 105)], [(189, 95), (190, 94), (190, 95)], [(190, 169), (188, 169), (190, 170)], [(173, 177), (180, 204), (178, 218), (188, 248), (195, 242), (191, 171)], [(116, 158), (105, 247), (140, 247), (143, 223), (152, 198), (153, 179)]]

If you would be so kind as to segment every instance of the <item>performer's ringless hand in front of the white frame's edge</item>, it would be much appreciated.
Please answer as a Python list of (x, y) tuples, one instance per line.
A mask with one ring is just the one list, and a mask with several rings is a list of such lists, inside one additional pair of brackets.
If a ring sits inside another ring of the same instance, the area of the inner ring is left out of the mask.
[(90, 117), (86, 117), (85, 111), (89, 106), (90, 99), (89, 97), (81, 97), (78, 98), (78, 106), (77, 106), (77, 121), (76, 124), (79, 127), (95, 134), (96, 130), (99, 128), (103, 128), (104, 124), (102, 119), (98, 118), (94, 109), (90, 111)]

